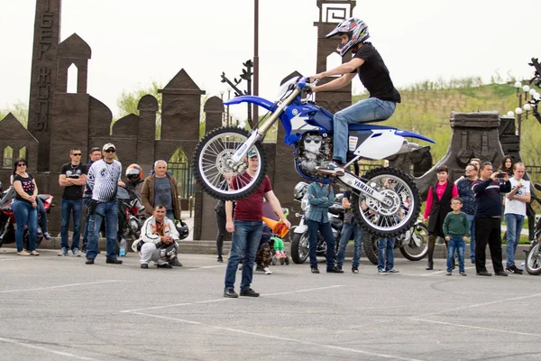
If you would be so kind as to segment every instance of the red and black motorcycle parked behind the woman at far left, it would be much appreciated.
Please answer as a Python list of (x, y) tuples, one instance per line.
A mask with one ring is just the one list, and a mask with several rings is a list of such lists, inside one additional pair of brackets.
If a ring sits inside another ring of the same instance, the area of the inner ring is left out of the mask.
[[(0, 247), (2, 245), (15, 243), (15, 216), (12, 209), (12, 203), (15, 199), (16, 191), (13, 187), (7, 190), (2, 190), (2, 182), (0, 182)], [(43, 202), (43, 207), (47, 213), (50, 213), (52, 207), (52, 196), (50, 194), (39, 194), (38, 198)], [(38, 212), (38, 221), (41, 218)], [(23, 232), (23, 247), (29, 249), (29, 232), (28, 227), (24, 228)], [(36, 237), (36, 247), (41, 245), (43, 236)]]

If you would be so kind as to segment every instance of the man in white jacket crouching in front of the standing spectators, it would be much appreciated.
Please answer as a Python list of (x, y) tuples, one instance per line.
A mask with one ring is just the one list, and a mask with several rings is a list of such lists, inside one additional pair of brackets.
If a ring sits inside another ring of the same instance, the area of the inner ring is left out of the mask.
[[(179, 232), (175, 223), (165, 217), (165, 206), (158, 205), (141, 228), (143, 242), (141, 247), (141, 268), (149, 268), (149, 262), (154, 261), (158, 268), (172, 268), (177, 258)], [(172, 264), (172, 265), (171, 265)]]

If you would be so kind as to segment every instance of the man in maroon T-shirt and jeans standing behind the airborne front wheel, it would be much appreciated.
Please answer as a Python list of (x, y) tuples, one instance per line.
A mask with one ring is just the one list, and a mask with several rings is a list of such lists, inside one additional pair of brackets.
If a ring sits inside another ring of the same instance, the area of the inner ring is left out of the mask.
[[(234, 176), (229, 187), (235, 189), (236, 178), (241, 178), (244, 181), (252, 179), (259, 167), (258, 154), (254, 150), (248, 152), (248, 171)], [(243, 261), (243, 279), (241, 281), (241, 296), (258, 297), (259, 293), (250, 288), (252, 284), (253, 261), (255, 254), (259, 248), (261, 240), (263, 217), (263, 197), (271, 204), (272, 210), (276, 212), (278, 217), (283, 219), (287, 227), (291, 227), (286, 216), (280, 206), (280, 200), (276, 198), (271, 187), (271, 180), (265, 176), (261, 187), (244, 199), (236, 200), (233, 217), (233, 202), (225, 202), (225, 229), (227, 232), (233, 233), (231, 242), (231, 252), (227, 260), (227, 268), (225, 270), (225, 290), (224, 297), (237, 298), (239, 295), (234, 292), (234, 280), (237, 267), (241, 261), (241, 256), (244, 254)]]

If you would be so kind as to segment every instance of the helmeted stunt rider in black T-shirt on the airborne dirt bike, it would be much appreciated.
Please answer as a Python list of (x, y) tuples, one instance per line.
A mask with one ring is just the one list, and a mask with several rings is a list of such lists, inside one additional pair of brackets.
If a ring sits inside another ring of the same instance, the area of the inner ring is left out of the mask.
[(341, 44), (336, 51), (344, 57), (348, 51), (352, 51), (353, 59), (331, 69), (310, 77), (310, 82), (316, 79), (324, 79), (335, 75), (342, 77), (328, 83), (312, 88), (313, 92), (335, 90), (347, 86), (355, 74), (359, 74), (362, 85), (369, 91), (370, 97), (361, 100), (352, 106), (348, 106), (335, 114), (335, 137), (333, 162), (319, 167), (317, 170), (322, 174), (336, 176), (344, 175), (344, 164), (348, 146), (348, 125), (367, 123), (374, 120), (387, 120), (392, 116), (400, 103), (400, 93), (394, 88), (390, 79), (389, 69), (381, 59), (380, 53), (371, 42), (366, 42), (370, 37), (368, 26), (360, 19), (352, 17), (339, 23), (335, 30), (329, 32), (326, 37), (339, 35)]

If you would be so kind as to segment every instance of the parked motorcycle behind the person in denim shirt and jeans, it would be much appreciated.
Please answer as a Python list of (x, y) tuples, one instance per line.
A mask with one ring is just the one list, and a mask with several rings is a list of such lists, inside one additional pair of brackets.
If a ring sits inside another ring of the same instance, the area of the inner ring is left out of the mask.
[[(302, 182), (304, 183), (304, 182)], [(300, 184), (300, 183), (299, 183)], [(306, 183), (305, 183), (306, 184)], [(338, 203), (338, 200), (339, 203)], [(291, 259), (296, 264), (304, 264), (308, 257), (308, 226), (307, 226), (307, 212), (310, 209), (310, 204), (307, 201), (307, 193), (302, 195), (299, 200), (301, 212), (295, 214), (295, 217), (300, 218), (298, 226), (291, 227), (289, 230), (289, 242), (291, 242)], [(335, 255), (338, 251), (338, 245), (340, 242), (340, 236), (342, 235), (342, 227), (344, 226), (344, 208), (342, 208), (342, 199), (335, 197), (335, 204), (328, 208), (328, 218), (333, 229), (333, 236), (335, 237)], [(317, 234), (317, 246), (316, 255), (326, 257), (326, 241), (321, 234)]]

